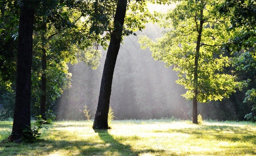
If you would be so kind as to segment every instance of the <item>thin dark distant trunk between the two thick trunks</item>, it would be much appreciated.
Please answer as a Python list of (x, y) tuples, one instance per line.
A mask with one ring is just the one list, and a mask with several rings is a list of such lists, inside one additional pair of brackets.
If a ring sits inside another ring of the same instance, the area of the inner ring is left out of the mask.
[(43, 119), (45, 118), (45, 109), (46, 109), (46, 50), (43, 48), (43, 56), (42, 56), (42, 77), (41, 77), (41, 101), (40, 101), (40, 114), (42, 115)]

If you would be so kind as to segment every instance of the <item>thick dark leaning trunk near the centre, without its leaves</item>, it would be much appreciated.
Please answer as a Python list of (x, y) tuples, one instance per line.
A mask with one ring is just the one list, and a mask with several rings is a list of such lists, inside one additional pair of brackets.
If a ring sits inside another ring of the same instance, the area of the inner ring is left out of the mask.
[(114, 68), (116, 65), (116, 59), (120, 48), (122, 39), (124, 17), (127, 7), (126, 0), (118, 0), (116, 14), (114, 16), (114, 30), (111, 33), (110, 43), (106, 60), (104, 64), (101, 88), (99, 91), (99, 101), (97, 111), (94, 118), (93, 129), (109, 129), (108, 126), (108, 112), (109, 101), (111, 95), (112, 79), (114, 74)]

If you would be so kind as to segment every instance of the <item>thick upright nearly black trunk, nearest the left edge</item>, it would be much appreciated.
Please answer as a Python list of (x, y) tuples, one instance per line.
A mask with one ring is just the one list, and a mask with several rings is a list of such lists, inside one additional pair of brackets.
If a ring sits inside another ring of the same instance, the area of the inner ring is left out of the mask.
[(20, 7), (18, 62), (14, 122), (10, 140), (19, 141), (23, 129), (30, 126), (31, 64), (33, 48), (34, 9), (30, 1), (22, 1)]

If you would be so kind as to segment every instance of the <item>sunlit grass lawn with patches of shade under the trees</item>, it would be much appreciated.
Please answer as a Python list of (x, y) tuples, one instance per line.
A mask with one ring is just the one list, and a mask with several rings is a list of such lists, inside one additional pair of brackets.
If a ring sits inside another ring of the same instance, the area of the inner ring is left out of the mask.
[(256, 155), (256, 124), (250, 122), (121, 120), (96, 132), (92, 124), (54, 122), (36, 143), (17, 144), (6, 141), (12, 122), (0, 122), (0, 155)]

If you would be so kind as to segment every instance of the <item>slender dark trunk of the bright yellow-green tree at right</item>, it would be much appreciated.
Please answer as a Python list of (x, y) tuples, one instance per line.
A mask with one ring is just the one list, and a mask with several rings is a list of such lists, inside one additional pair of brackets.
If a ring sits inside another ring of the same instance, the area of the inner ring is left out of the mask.
[[(195, 17), (196, 18), (196, 17)], [(196, 19), (195, 19), (196, 20)], [(197, 121), (197, 95), (198, 95), (198, 60), (200, 57), (200, 43), (201, 43), (201, 37), (202, 37), (202, 30), (203, 30), (203, 9), (200, 10), (200, 25), (199, 28), (197, 26), (197, 42), (196, 42), (196, 54), (195, 54), (195, 70), (194, 70), (194, 97), (193, 97), (193, 124), (198, 124)]]

